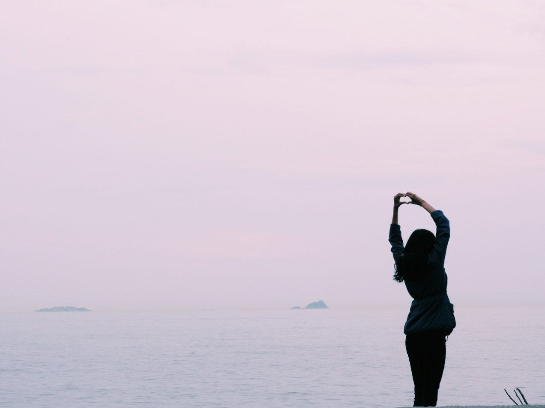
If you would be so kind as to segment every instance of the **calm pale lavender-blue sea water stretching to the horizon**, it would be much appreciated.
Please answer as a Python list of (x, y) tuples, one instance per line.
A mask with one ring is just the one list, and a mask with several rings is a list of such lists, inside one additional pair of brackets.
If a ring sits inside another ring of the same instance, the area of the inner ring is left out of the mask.
[[(408, 310), (0, 314), (0, 407), (412, 405)], [(456, 309), (439, 405), (545, 403), (545, 308)]]

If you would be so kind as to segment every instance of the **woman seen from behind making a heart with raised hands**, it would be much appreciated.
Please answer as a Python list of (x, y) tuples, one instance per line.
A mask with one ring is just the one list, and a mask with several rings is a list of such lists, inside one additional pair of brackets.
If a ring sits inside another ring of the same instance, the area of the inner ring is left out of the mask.
[[(402, 197), (410, 202), (402, 202)], [(421, 206), (432, 216), (437, 231), (417, 229), (403, 246), (398, 210), (403, 204)], [(413, 297), (404, 326), (405, 348), (414, 382), (413, 406), (436, 406), (439, 384), (445, 368), (446, 340), (456, 326), (454, 306), (446, 293), (446, 247), (450, 222), (443, 211), (435, 210), (414, 193), (393, 197), (393, 217), (389, 241), (395, 261), (397, 282), (404, 282)]]

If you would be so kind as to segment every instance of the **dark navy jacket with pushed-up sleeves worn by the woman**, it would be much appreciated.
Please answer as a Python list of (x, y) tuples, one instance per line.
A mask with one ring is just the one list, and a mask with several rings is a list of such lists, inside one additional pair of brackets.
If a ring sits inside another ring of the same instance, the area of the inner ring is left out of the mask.
[[(413, 297), (410, 312), (405, 322), (404, 333), (418, 333), (425, 331), (443, 331), (450, 334), (456, 327), (454, 306), (446, 294), (447, 277), (445, 272), (446, 246), (450, 238), (450, 223), (443, 211), (431, 213), (437, 233), (435, 243), (429, 257), (429, 273), (419, 281), (407, 281), (405, 287)], [(390, 244), (392, 245), (393, 259), (403, 253), (403, 239), (401, 227), (398, 224), (390, 225)]]

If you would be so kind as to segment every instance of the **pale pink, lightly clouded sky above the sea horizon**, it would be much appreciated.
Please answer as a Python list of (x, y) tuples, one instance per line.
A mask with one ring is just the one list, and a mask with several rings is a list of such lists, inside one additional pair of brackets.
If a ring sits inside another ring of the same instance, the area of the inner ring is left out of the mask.
[(545, 304), (545, 3), (0, 9), (1, 311), (408, 307), (407, 191), (455, 307)]

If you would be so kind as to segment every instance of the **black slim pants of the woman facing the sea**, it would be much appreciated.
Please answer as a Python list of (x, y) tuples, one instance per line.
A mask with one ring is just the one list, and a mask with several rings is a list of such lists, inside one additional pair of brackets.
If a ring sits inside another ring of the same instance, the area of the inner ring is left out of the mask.
[(414, 405), (437, 405), (437, 392), (445, 368), (445, 333), (407, 334), (405, 348), (414, 381)]

